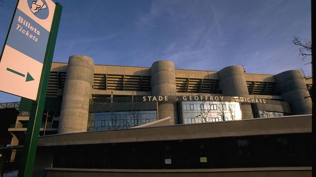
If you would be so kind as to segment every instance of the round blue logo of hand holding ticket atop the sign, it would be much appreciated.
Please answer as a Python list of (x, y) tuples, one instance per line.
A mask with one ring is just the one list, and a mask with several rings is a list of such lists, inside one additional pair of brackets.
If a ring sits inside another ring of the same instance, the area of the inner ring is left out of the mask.
[(49, 11), (45, 0), (27, 0), (31, 12), (39, 19), (46, 19)]

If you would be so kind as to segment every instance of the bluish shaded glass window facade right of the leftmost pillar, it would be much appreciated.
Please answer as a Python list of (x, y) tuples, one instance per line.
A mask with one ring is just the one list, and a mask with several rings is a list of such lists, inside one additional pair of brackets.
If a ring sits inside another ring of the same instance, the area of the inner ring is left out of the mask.
[(157, 121), (157, 111), (89, 113), (88, 131), (124, 129)]

